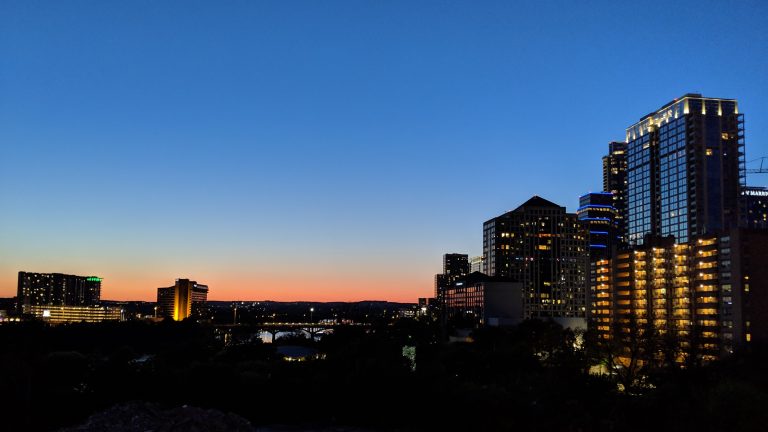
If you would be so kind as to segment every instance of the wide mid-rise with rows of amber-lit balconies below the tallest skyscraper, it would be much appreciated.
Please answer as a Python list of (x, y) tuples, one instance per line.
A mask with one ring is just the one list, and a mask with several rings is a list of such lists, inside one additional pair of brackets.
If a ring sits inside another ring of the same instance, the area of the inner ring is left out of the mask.
[(713, 360), (768, 340), (768, 231), (732, 229), (677, 243), (643, 245), (597, 262), (591, 316), (602, 340), (655, 338), (657, 352)]

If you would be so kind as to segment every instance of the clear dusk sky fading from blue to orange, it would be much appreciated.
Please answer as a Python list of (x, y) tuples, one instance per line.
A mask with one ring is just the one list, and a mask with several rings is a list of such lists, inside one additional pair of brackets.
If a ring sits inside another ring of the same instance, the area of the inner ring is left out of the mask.
[[(768, 156), (768, 2), (0, 2), (0, 297), (430, 296), (441, 256), (602, 188), (625, 128), (735, 98)], [(765, 175), (749, 178), (768, 184)]]

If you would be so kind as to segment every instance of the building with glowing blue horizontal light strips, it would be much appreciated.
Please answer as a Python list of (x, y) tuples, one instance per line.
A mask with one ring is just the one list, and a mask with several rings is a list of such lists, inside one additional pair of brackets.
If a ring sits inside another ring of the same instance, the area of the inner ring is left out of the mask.
[(595, 261), (609, 258), (619, 244), (618, 210), (612, 192), (590, 192), (579, 197), (576, 215), (587, 227), (589, 256)]

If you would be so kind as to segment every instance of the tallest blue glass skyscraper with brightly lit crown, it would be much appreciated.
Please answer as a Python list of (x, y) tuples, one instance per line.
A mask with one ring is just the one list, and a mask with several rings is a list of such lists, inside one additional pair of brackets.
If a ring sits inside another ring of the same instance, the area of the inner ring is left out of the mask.
[(679, 243), (738, 223), (744, 117), (734, 99), (686, 94), (626, 130), (628, 241)]

